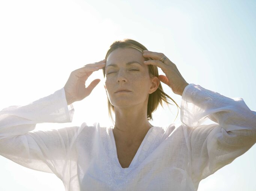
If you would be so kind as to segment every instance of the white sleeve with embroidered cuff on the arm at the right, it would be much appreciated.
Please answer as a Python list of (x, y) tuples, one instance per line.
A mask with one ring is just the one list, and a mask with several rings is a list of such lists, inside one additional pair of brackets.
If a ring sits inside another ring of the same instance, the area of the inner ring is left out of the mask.
[[(216, 122), (202, 124), (207, 118)], [(181, 100), (181, 122), (189, 129), (193, 178), (200, 181), (256, 143), (256, 112), (243, 98), (229, 98), (189, 84)]]

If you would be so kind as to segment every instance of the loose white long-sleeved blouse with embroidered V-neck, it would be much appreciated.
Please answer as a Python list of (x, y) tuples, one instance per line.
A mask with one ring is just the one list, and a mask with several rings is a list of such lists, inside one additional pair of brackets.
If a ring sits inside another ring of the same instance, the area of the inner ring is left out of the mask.
[[(256, 143), (256, 112), (243, 98), (228, 98), (189, 84), (181, 123), (153, 126), (122, 168), (112, 127), (99, 123), (33, 131), (36, 123), (72, 122), (64, 88), (26, 106), (0, 111), (0, 154), (22, 166), (54, 173), (66, 191), (196, 191), (199, 182)], [(203, 125), (208, 118), (216, 123)]]

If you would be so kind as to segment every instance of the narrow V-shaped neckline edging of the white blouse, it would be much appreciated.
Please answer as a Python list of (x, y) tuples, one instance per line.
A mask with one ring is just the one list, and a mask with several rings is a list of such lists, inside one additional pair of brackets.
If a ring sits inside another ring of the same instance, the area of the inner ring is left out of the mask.
[(152, 129), (154, 128), (155, 126), (152, 126), (150, 129), (148, 129), (148, 132), (147, 134), (145, 135), (144, 139), (142, 140), (141, 142), (141, 145), (139, 145), (139, 148), (135, 154), (135, 156), (133, 157), (132, 159), (132, 162), (130, 163), (129, 167), (126, 167), (126, 168), (123, 168), (118, 160), (118, 155), (117, 155), (117, 146), (115, 144), (115, 137), (114, 137), (114, 133), (113, 133), (113, 128), (110, 128), (110, 134), (111, 134), (111, 141), (114, 145), (114, 152), (115, 152), (115, 161), (118, 163), (118, 166), (121, 168), (121, 169), (131, 169), (135, 166), (136, 162), (137, 162), (137, 159), (138, 159), (138, 156), (139, 154), (141, 153), (141, 149), (145, 143), (145, 140), (147, 139), (148, 135), (150, 135), (150, 132), (152, 132)]

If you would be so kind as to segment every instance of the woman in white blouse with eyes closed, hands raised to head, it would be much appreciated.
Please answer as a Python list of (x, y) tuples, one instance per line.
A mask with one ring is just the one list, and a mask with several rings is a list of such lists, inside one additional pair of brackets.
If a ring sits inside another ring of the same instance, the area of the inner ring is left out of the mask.
[[(158, 75), (157, 67), (165, 75)], [(114, 128), (82, 123), (29, 132), (36, 123), (71, 122), (72, 103), (99, 83), (95, 79), (85, 87), (88, 76), (99, 69), (105, 77), (109, 115), (115, 113)], [(160, 81), (182, 96), (182, 123), (167, 129), (148, 122), (158, 104), (171, 99)], [(203, 125), (207, 117), (216, 123)], [(242, 98), (188, 84), (164, 54), (130, 39), (114, 42), (104, 60), (71, 72), (54, 94), (0, 112), (0, 154), (22, 166), (55, 173), (68, 191), (195, 191), (202, 179), (255, 142), (256, 112)]]

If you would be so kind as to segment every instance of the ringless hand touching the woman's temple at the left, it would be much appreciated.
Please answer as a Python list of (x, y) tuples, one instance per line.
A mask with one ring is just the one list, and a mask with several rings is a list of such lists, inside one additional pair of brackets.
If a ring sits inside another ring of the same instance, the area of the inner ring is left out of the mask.
[(98, 71), (105, 67), (105, 62), (106, 59), (101, 60), (100, 62), (87, 64), (84, 67), (71, 72), (69, 79), (64, 86), (68, 105), (75, 101), (80, 101), (90, 95), (93, 88), (99, 84), (100, 79), (94, 79), (87, 88), (85, 88), (85, 81), (94, 71)]

